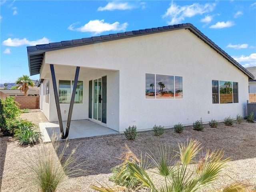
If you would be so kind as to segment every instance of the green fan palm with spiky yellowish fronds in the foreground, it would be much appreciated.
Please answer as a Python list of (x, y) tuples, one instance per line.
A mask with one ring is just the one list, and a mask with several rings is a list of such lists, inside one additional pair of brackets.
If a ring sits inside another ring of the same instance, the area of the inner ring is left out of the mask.
[[(157, 187), (153, 180), (148, 175), (146, 167), (142, 160), (138, 160), (130, 148), (126, 146), (126, 154), (130, 158), (126, 159), (123, 164), (126, 164), (130, 170), (130, 175), (142, 182), (141, 186), (149, 188), (151, 192), (196, 192), (200, 188), (212, 184), (225, 164), (230, 161), (230, 158), (223, 159), (224, 153), (222, 150), (206, 151), (205, 155), (198, 161), (198, 155), (202, 154), (200, 142), (190, 140), (184, 144), (179, 144), (179, 152), (175, 156), (171, 156), (170, 149), (167, 146), (160, 146), (158, 156), (155, 154), (146, 154), (150, 159), (148, 162), (153, 162), (156, 174), (162, 176), (163, 185)], [(174, 158), (178, 158), (178, 162), (174, 163)], [(193, 166), (196, 164), (196, 166)], [(190, 166), (191, 165), (191, 166)], [(108, 188), (91, 186), (92, 188), (108, 192)]]

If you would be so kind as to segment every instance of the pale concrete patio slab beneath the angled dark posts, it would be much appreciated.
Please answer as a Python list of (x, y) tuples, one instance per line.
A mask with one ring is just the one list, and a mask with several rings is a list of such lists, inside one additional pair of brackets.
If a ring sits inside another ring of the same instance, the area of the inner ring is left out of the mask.
[[(67, 121), (63, 121), (64, 132), (66, 131)], [(40, 131), (42, 132), (43, 142), (51, 142), (52, 135), (60, 136), (60, 126), (58, 122), (39, 123)], [(72, 120), (68, 139), (86, 138), (93, 136), (102, 136), (109, 134), (118, 134), (117, 131), (94, 123), (90, 120)]]

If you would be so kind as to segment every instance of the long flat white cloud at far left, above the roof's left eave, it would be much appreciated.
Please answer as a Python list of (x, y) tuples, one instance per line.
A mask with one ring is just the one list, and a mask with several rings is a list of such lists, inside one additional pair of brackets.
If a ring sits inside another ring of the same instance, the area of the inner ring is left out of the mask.
[(4, 40), (2, 42), (2, 44), (5, 46), (17, 47), (17, 46), (22, 46), (22, 45), (35, 46), (35, 45), (39, 45), (39, 44), (48, 44), (49, 42), (50, 42), (50, 40), (48, 40), (46, 37), (44, 37), (42, 39), (38, 39), (36, 41), (29, 41), (26, 38), (24, 38), (24, 39), (8, 38), (7, 40)]

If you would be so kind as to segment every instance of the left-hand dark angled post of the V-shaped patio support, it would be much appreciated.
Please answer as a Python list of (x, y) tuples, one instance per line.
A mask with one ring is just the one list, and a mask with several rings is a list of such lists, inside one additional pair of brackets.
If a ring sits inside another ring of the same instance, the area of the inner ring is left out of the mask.
[(64, 139), (63, 123), (62, 123), (61, 112), (60, 112), (60, 102), (59, 102), (58, 89), (57, 89), (56, 77), (55, 77), (53, 64), (50, 64), (50, 69), (51, 69), (51, 74), (52, 74), (52, 84), (53, 84), (55, 102), (56, 102), (56, 107), (57, 107), (60, 133), (61, 133), (61, 138)]

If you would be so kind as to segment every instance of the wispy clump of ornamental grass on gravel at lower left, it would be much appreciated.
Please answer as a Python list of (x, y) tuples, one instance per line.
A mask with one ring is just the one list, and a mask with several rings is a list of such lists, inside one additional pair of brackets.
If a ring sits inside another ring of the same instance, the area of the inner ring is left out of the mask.
[(82, 165), (77, 163), (79, 157), (74, 156), (75, 150), (66, 154), (67, 148), (67, 140), (63, 146), (61, 141), (54, 136), (52, 137), (52, 145), (42, 144), (35, 156), (28, 159), (28, 168), (33, 173), (32, 180), (41, 192), (55, 192), (67, 176), (86, 173), (86, 170), (79, 168)]

